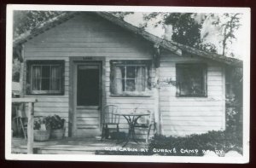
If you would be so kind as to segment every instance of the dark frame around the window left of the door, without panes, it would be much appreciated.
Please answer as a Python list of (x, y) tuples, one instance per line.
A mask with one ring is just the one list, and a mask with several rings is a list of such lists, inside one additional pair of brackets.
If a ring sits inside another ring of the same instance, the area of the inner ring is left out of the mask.
[[(36, 66), (60, 66), (60, 90), (33, 90), (32, 89), (32, 67)], [(42, 96), (62, 96), (64, 95), (64, 77), (65, 61), (64, 60), (29, 60), (26, 61), (26, 95), (42, 95)]]

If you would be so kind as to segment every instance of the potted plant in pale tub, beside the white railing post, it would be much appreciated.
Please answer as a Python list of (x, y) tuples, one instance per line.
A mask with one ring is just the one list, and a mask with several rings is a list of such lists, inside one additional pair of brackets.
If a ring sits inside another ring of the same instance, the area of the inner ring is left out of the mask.
[(34, 140), (44, 142), (49, 140), (50, 125), (45, 117), (37, 117), (34, 119)]

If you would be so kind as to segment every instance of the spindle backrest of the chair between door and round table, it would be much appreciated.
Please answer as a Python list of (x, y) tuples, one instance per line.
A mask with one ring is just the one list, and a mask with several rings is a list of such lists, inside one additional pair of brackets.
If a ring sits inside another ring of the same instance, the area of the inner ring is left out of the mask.
[(118, 124), (119, 116), (114, 115), (114, 113), (117, 113), (117, 112), (118, 112), (117, 106), (114, 106), (114, 105), (105, 106), (103, 111), (103, 124), (104, 123)]

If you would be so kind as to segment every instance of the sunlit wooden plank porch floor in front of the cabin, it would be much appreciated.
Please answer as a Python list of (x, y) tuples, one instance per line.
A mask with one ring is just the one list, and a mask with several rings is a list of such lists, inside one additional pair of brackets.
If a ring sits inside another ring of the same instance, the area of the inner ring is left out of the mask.
[[(61, 140), (34, 142), (33, 154), (138, 154), (142, 148), (148, 148), (145, 142), (129, 142), (122, 148), (123, 144), (110, 139), (101, 141), (100, 138), (66, 137)], [(12, 153), (26, 154), (26, 140), (13, 137)]]

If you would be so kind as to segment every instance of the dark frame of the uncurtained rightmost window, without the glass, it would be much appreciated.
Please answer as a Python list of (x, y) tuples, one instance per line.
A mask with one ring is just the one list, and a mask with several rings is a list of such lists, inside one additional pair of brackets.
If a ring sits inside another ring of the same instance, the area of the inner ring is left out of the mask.
[[(179, 86), (179, 75), (178, 75), (178, 69), (183, 68), (183, 67), (201, 67), (202, 70), (202, 94), (187, 94), (187, 95), (182, 95), (180, 91), (180, 86)], [(186, 62), (186, 63), (177, 63), (176, 64), (176, 96), (177, 97), (207, 97), (207, 63), (204, 62)]]

